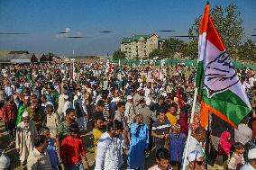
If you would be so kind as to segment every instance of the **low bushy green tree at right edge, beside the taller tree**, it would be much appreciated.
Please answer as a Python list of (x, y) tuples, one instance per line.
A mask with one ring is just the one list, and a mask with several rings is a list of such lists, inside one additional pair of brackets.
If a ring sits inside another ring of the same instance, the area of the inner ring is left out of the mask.
[(238, 56), (242, 60), (256, 61), (256, 45), (251, 40), (245, 41), (238, 51)]

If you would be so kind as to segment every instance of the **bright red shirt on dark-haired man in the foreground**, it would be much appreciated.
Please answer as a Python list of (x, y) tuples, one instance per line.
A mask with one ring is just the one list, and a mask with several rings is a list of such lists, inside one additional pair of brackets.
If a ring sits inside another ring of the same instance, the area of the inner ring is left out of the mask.
[(61, 142), (60, 148), (61, 158), (64, 166), (73, 167), (82, 162), (82, 157), (86, 157), (86, 151), (83, 146), (83, 139), (77, 137), (72, 139), (68, 136)]

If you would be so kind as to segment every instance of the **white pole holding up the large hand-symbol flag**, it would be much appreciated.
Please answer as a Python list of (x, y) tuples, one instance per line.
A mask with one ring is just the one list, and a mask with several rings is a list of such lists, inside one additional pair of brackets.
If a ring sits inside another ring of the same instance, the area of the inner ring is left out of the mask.
[(193, 99), (193, 105), (192, 105), (192, 112), (191, 112), (191, 118), (189, 121), (189, 125), (188, 125), (188, 134), (187, 134), (187, 142), (186, 142), (186, 148), (185, 148), (185, 156), (184, 156), (184, 161), (183, 161), (183, 166), (182, 166), (182, 170), (186, 169), (186, 164), (187, 164), (187, 155), (188, 155), (188, 144), (191, 138), (191, 134), (192, 134), (192, 123), (194, 121), (194, 114), (195, 114), (195, 110), (196, 110), (196, 104), (197, 104), (197, 93), (198, 93), (198, 88), (195, 88), (195, 93), (194, 93), (194, 99)]

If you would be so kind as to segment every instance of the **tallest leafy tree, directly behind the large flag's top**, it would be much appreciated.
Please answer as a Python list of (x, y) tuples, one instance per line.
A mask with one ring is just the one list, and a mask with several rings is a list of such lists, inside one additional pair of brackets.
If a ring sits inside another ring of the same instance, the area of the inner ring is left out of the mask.
[[(242, 37), (244, 35), (241, 13), (238, 11), (237, 6), (233, 3), (225, 8), (215, 5), (210, 11), (210, 16), (215, 23), (216, 30), (224, 41), (226, 49), (228, 49), (232, 57), (237, 57), (238, 48), (242, 44)], [(197, 35), (201, 17), (197, 17), (195, 23), (188, 30), (188, 35), (196, 35), (196, 37), (191, 38), (193, 43), (198, 41)], [(197, 50), (194, 50), (193, 53), (197, 54)]]

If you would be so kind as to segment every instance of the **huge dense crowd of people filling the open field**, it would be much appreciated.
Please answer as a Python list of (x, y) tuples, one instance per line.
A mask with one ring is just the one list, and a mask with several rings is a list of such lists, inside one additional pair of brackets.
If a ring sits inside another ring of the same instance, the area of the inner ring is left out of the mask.
[[(252, 111), (235, 130), (214, 114), (211, 127), (201, 127), (199, 96), (189, 124), (197, 70), (185, 65), (3, 65), (0, 117), (20, 165), (29, 170), (143, 170), (154, 150), (150, 170), (181, 169), (184, 159), (191, 170), (256, 169), (256, 76), (250, 68), (237, 72)], [(93, 135), (94, 165), (80, 136), (86, 132)]]

